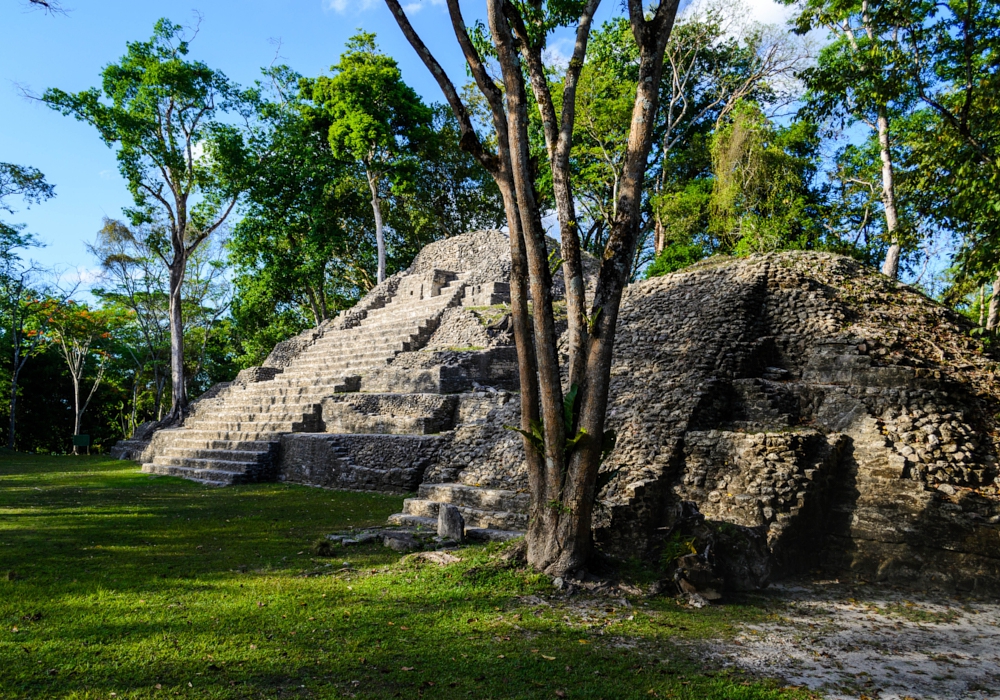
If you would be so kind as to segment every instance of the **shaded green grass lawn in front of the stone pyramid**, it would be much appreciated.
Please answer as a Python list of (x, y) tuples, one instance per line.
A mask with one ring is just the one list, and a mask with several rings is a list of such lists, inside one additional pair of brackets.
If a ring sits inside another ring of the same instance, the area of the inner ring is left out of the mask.
[(0, 455), (0, 698), (808, 697), (698, 661), (699, 639), (764, 607), (532, 605), (548, 580), (482, 547), (448, 567), (380, 545), (310, 555), (400, 505)]

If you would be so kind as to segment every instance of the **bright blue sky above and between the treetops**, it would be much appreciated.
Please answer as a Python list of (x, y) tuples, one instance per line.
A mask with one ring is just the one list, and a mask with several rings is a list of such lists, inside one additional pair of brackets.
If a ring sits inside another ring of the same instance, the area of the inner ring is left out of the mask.
[[(425, 99), (441, 101), (381, 0), (63, 0), (65, 16), (32, 11), (27, 4), (0, 0), (0, 161), (39, 168), (56, 186), (56, 198), (30, 210), (21, 207), (6, 220), (28, 224), (47, 244), (31, 251), (33, 259), (68, 277), (79, 270), (85, 282), (95, 267), (85, 243), (94, 239), (104, 216), (118, 217), (130, 204), (128, 191), (114, 152), (91, 127), (26, 100), (19, 86), (39, 93), (96, 86), (101, 69), (124, 53), (127, 41), (149, 38), (160, 17), (191, 25), (197, 10), (202, 21), (191, 55), (239, 83), (257, 79), (276, 52), (279, 62), (318, 75), (337, 61), (360, 27), (377, 33), (382, 49), (399, 61), (406, 81)], [(481, 0), (462, 4), (470, 23), (483, 11)], [(605, 0), (600, 18), (620, 6)], [(751, 6), (764, 22), (779, 20), (784, 9), (771, 0), (754, 0)], [(407, 9), (445, 68), (464, 82), (444, 0), (410, 2)], [(555, 51), (567, 47), (559, 40), (553, 44)]]

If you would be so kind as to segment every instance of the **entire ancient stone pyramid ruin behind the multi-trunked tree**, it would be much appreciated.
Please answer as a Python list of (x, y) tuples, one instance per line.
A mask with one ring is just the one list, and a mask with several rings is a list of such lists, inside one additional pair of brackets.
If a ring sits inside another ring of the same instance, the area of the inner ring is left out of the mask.
[[(220, 486), (416, 491), (393, 522), (436, 530), (451, 504), (469, 538), (520, 534), (508, 245), (428, 246), (120, 456)], [(757, 528), (779, 574), (1000, 590), (996, 363), (944, 307), (841, 256), (712, 258), (629, 287), (615, 347), (603, 551), (654, 555), (687, 502)]]

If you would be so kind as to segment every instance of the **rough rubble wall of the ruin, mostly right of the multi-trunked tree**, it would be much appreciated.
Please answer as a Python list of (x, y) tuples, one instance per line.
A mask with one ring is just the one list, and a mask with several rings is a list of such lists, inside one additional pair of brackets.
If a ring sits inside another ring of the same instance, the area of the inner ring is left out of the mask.
[[(630, 286), (599, 546), (655, 554), (690, 500), (766, 527), (780, 571), (1000, 590), (1000, 401), (968, 330), (835, 255), (710, 259)], [(518, 422), (514, 398), (459, 427), (427, 481), (525, 490), (503, 428)]]

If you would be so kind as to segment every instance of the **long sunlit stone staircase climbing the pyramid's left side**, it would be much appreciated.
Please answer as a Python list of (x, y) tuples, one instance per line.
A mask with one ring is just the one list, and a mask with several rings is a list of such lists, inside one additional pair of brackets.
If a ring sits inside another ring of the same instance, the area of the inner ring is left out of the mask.
[(353, 327), (326, 330), (272, 379), (231, 386), (200, 402), (182, 428), (157, 432), (142, 470), (219, 486), (274, 478), (281, 435), (324, 432), (324, 399), (357, 392), (367, 371), (420, 348), (464, 291), (462, 275), (404, 277), (389, 303)]

